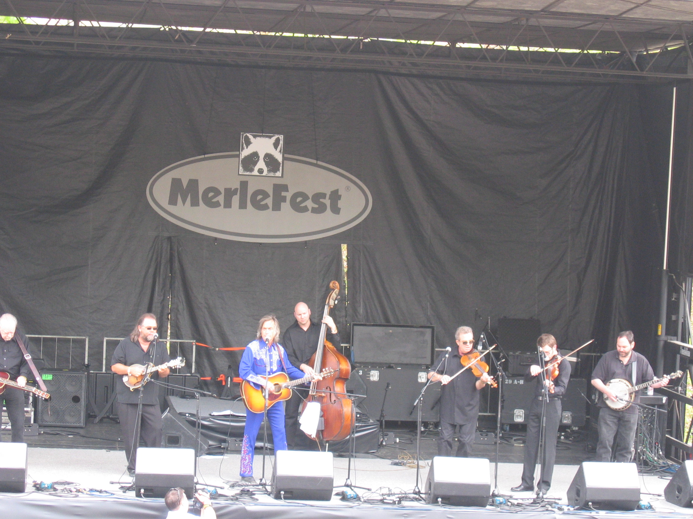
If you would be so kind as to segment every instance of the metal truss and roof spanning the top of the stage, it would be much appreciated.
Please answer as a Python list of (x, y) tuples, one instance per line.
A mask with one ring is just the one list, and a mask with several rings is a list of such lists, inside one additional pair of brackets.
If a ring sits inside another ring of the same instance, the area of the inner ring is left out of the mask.
[[(49, 19), (43, 25), (0, 25), (0, 47), (5, 53), (86, 53), (461, 77), (630, 82), (693, 78), (690, 24), (653, 27), (650, 20), (628, 19), (631, 30), (623, 30), (619, 17), (574, 15), (572, 27), (556, 28), (556, 19), (565, 24), (568, 15), (496, 9), (496, 15), (516, 16), (499, 24), (480, 21), (475, 1), (454, 7), (272, 0), (274, 8), (259, 9), (262, 1), (220, 0), (216, 6), (202, 6), (164, 0), (0, 0), (0, 15)], [(335, 15), (335, 9), (342, 12)], [(633, 24), (648, 29), (632, 30)]]

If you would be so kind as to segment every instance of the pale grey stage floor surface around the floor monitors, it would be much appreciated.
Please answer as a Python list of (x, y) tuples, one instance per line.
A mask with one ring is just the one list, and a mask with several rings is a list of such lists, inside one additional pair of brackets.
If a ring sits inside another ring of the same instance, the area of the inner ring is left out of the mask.
[[(270, 480), (272, 474), (272, 456), (268, 456), (265, 459), (265, 474), (267, 475), (267, 480)], [(335, 485), (342, 484), (347, 478), (347, 464), (348, 459), (345, 457), (335, 457)], [(228, 495), (234, 495), (240, 490), (240, 487), (229, 489), (229, 482), (236, 482), (238, 477), (238, 466), (240, 462), (240, 455), (237, 454), (227, 454), (224, 456), (204, 456), (199, 459), (199, 473), (198, 478), (201, 484), (214, 484), (224, 486), (224, 490), (220, 490), (221, 493)], [(259, 477), (262, 473), (262, 456), (260, 453), (256, 453), (254, 471), (256, 477)], [(423, 480), (426, 479), (428, 473), (428, 463), (425, 468), (421, 468), (421, 477)], [(547, 497), (553, 497), (558, 500), (559, 503), (567, 503), (565, 493), (568, 490), (568, 486), (577, 471), (576, 465), (556, 465), (554, 470), (553, 486)], [(493, 471), (493, 464), (491, 464), (491, 469)], [(501, 463), (499, 464), (498, 470), (498, 487), (500, 492), (505, 495), (510, 495), (510, 488), (516, 486), (520, 482), (520, 474), (522, 472), (522, 466), (520, 464), (514, 463)], [(101, 498), (114, 499), (120, 498), (130, 498), (135, 500), (135, 502), (143, 502), (143, 500), (138, 500), (134, 498), (134, 493), (128, 491), (123, 493), (119, 490), (119, 484), (112, 483), (121, 481), (123, 483), (129, 483), (131, 481), (130, 477), (125, 474), (125, 454), (122, 450), (105, 450), (105, 449), (93, 449), (93, 448), (37, 448), (31, 447), (28, 449), (28, 481), (44, 481), (44, 482), (56, 482), (56, 481), (68, 481), (78, 484), (78, 487), (84, 489), (94, 489), (105, 491), (112, 495), (102, 494)], [(674, 504), (666, 502), (663, 498), (663, 490), (667, 484), (667, 480), (662, 479), (653, 475), (642, 475), (640, 476), (641, 488), (642, 488), (642, 500), (651, 502), (655, 508), (655, 514), (652, 512), (633, 512), (634, 515), (642, 515), (642, 513), (648, 513), (648, 515), (658, 515), (657, 513), (667, 513), (671, 515), (672, 512), (681, 513), (682, 516), (690, 517), (691, 509), (683, 509), (677, 507)], [(351, 472), (351, 482), (354, 485), (369, 487), (371, 491), (378, 491), (380, 493), (385, 493), (392, 489), (394, 491), (411, 491), (414, 489), (416, 482), (416, 470), (415, 468), (410, 468), (407, 466), (394, 466), (392, 465), (391, 459), (380, 459), (380, 458), (363, 458), (358, 457), (352, 459), (352, 472)], [(420, 482), (419, 486), (423, 488), (423, 482)], [(28, 486), (30, 489), (30, 486)], [(340, 489), (335, 489), (339, 491)], [(360, 496), (364, 499), (376, 498), (377, 494), (369, 491), (357, 489)], [(67, 496), (66, 496), (67, 497)], [(281, 503), (273, 500), (267, 495), (261, 493), (256, 493), (253, 496), (256, 502), (241, 502), (243, 506), (247, 509), (248, 507), (259, 506), (259, 505), (277, 505), (283, 504), (287, 506), (286, 503)], [(516, 498), (529, 498), (529, 493), (519, 493), (515, 495)], [(44, 493), (29, 493), (24, 495), (2, 495), (3, 504), (0, 507), (7, 509), (10, 507), (12, 509), (17, 509), (16, 507), (19, 503), (16, 500), (28, 500), (22, 503), (20, 509), (23, 513), (28, 513), (28, 516), (23, 516), (25, 519), (29, 519), (32, 516), (30, 507), (30, 502), (36, 499), (46, 502), (45, 500), (51, 499), (48, 495)], [(63, 500), (65, 498), (52, 498), (53, 500)], [(73, 498), (79, 499), (79, 498)], [(12, 507), (12, 503), (15, 504)], [(155, 500), (146, 500), (147, 502), (156, 502)], [(130, 500), (128, 500), (130, 502)], [(158, 502), (161, 507), (161, 501)], [(355, 504), (342, 502), (338, 497), (333, 497), (330, 503), (326, 502), (310, 502), (313, 508), (315, 507), (343, 507), (345, 509), (344, 513), (347, 513), (346, 509), (354, 507)], [(56, 505), (57, 506), (57, 505)], [(60, 505), (62, 506), (62, 505)], [(153, 506), (153, 505), (152, 505)], [(234, 505), (236, 506), (236, 505)], [(238, 517), (238, 510), (236, 508), (228, 507), (225, 505), (223, 510), (227, 513), (222, 513), (222, 516), (234, 516)], [(359, 507), (361, 505), (358, 505)], [(28, 508), (27, 508), (28, 507)], [(377, 507), (376, 507), (377, 508)], [(392, 509), (393, 507), (385, 507), (387, 509)], [(425, 506), (423, 504), (415, 502), (404, 502), (401, 507), (394, 507), (400, 511), (406, 511), (407, 509), (414, 511), (413, 509), (419, 509), (421, 514), (427, 515), (428, 512), (424, 513), (426, 509), (431, 509), (431, 506)], [(435, 508), (435, 507), (433, 507)], [(152, 509), (152, 507), (144, 507), (144, 509)], [(152, 510), (155, 510), (153, 508)], [(330, 508), (333, 510), (332, 508)], [(383, 509), (383, 508), (379, 508)], [(458, 507), (445, 507), (441, 509), (437, 507), (439, 511), (444, 511), (446, 516), (451, 514), (457, 515), (457, 512), (471, 512), (475, 511), (478, 515), (479, 509), (464, 509)], [(234, 511), (231, 514), (231, 511)], [(487, 509), (488, 513), (491, 513), (493, 508), (489, 507)], [(164, 509), (161, 508), (163, 512)], [(429, 510), (430, 511), (430, 510)], [(317, 512), (317, 510), (316, 510)], [(334, 512), (334, 510), (333, 510)], [(62, 513), (67, 513), (62, 511)], [(538, 511), (534, 511), (536, 516)], [(549, 512), (543, 512), (541, 515), (545, 515)], [(574, 513), (574, 512), (573, 512)], [(229, 515), (231, 514), (231, 515)], [(351, 514), (351, 512), (349, 512)], [(419, 515), (421, 515), (419, 514)], [(81, 513), (79, 514), (81, 515)], [(243, 514), (247, 516), (247, 514)], [(322, 514), (320, 514), (322, 515)], [(331, 513), (334, 516), (334, 513)], [(367, 513), (366, 516), (372, 516), (373, 513)], [(620, 516), (624, 515), (623, 512), (619, 513)], [(630, 515), (630, 514), (626, 514)], [(275, 510), (272, 513), (272, 517), (289, 517), (287, 513), (279, 513)], [(401, 515), (405, 517), (407, 514)], [(410, 515), (408, 515), (410, 516)], [(48, 517), (47, 515), (44, 517)], [(155, 517), (155, 515), (150, 515), (150, 517)], [(163, 517), (163, 515), (161, 515)], [(442, 516), (441, 516), (442, 517)]]

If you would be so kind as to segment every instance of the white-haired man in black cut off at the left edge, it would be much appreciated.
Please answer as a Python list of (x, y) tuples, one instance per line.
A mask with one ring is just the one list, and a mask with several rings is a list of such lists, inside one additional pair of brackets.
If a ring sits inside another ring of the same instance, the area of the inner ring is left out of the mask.
[[(17, 338), (31, 354), (28, 339), (17, 331), (17, 318), (11, 313), (3, 313), (0, 316), (0, 372), (7, 373), (10, 380), (23, 388), (31, 373), (31, 367), (19, 347)], [(24, 391), (11, 388), (9, 385), (6, 385), (0, 394), (0, 406), (2, 403), (5, 404), (12, 426), (12, 441), (16, 443), (24, 443), (24, 394)]]

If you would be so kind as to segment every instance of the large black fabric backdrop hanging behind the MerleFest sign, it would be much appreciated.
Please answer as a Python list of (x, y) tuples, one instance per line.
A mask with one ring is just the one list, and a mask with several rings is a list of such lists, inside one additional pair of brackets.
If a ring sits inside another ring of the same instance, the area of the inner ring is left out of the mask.
[[(144, 311), (163, 319), (169, 293), (171, 335), (215, 347), (247, 344), (267, 312), (286, 328), (298, 300), (319, 314), (328, 282), (342, 279), (340, 244), (347, 341), (349, 322), (432, 324), (444, 347), (458, 325), (509, 316), (541, 319), (561, 347), (595, 337), (604, 351), (625, 328), (640, 351), (651, 346), (670, 86), (96, 59), (0, 66), (0, 309), (28, 333), (88, 335), (94, 365), (100, 338), (124, 336)], [(354, 174), (373, 194), (370, 215), (332, 237), (255, 244), (150, 208), (155, 173), (238, 151), (241, 132), (283, 134), (285, 153)], [(204, 349), (198, 371), (236, 358)]]

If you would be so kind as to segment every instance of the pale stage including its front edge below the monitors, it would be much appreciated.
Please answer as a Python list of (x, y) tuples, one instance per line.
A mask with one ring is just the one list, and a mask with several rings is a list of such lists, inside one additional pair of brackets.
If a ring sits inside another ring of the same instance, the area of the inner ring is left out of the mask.
[[(522, 448), (518, 448), (522, 450)], [(404, 451), (401, 451), (404, 452)], [(407, 451), (410, 452), (410, 451)], [(411, 453), (411, 452), (410, 452)], [(413, 453), (412, 453), (413, 454)], [(522, 516), (549, 516), (559, 511), (555, 506), (543, 507), (532, 505), (529, 493), (517, 493), (513, 498), (527, 503), (526, 511), (519, 507), (487, 507), (482, 512), (478, 508), (441, 507), (428, 505), (413, 500), (403, 500), (400, 505), (382, 504), (382, 497), (388, 493), (403, 494), (412, 491), (415, 485), (416, 470), (410, 466), (396, 466), (391, 459), (382, 459), (376, 455), (362, 454), (352, 459), (351, 482), (354, 485), (369, 487), (371, 491), (356, 489), (361, 502), (344, 502), (333, 496), (331, 502), (280, 502), (253, 489), (253, 493), (243, 491), (243, 486), (236, 486), (240, 455), (206, 455), (199, 459), (198, 480), (200, 484), (219, 485), (222, 495), (228, 498), (217, 499), (214, 507), (218, 517), (222, 518), (303, 518), (308, 513), (310, 518), (450, 518), (464, 516), (501, 515), (520, 513)], [(272, 474), (273, 457), (265, 460), (267, 480)], [(336, 457), (335, 485), (343, 484), (347, 479), (348, 458)], [(425, 481), (429, 460), (422, 462), (421, 477)], [(426, 465), (426, 466), (423, 466)], [(553, 486), (547, 498), (555, 498), (556, 504), (566, 504), (565, 493), (577, 471), (577, 465), (556, 465)], [(493, 471), (493, 464), (491, 464)], [(254, 471), (256, 477), (262, 473), (261, 451), (256, 450)], [(510, 496), (510, 488), (520, 482), (522, 465), (518, 463), (500, 463), (498, 467), (498, 488), (502, 495)], [(163, 518), (166, 509), (162, 500), (136, 498), (133, 491), (123, 492), (121, 485), (112, 482), (129, 484), (130, 477), (125, 475), (125, 455), (121, 450), (95, 448), (37, 448), (28, 449), (28, 489), (31, 482), (71, 482), (74, 488), (85, 489), (85, 493), (28, 492), (24, 494), (2, 494), (0, 507), (7, 517), (63, 518), (66, 516), (89, 516), (102, 518)], [(667, 516), (690, 516), (690, 509), (683, 509), (664, 500), (664, 487), (668, 480), (657, 475), (641, 475), (640, 484), (645, 502), (652, 504), (654, 511), (618, 512), (619, 516), (648, 516), (666, 513)], [(67, 485), (67, 483), (63, 483)], [(231, 485), (231, 488), (229, 488)], [(423, 488), (423, 481), (419, 484)], [(336, 488), (335, 493), (342, 489)], [(510, 499), (510, 498), (509, 498)], [(512, 499), (510, 499), (513, 502)], [(306, 510), (310, 509), (310, 512)], [(589, 511), (570, 511), (572, 516), (591, 516)], [(599, 512), (607, 516), (610, 512)]]

